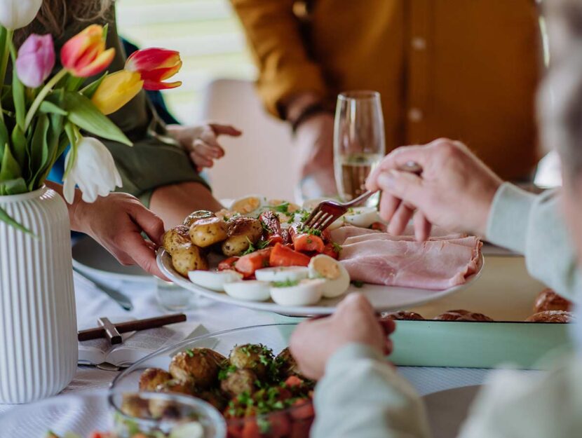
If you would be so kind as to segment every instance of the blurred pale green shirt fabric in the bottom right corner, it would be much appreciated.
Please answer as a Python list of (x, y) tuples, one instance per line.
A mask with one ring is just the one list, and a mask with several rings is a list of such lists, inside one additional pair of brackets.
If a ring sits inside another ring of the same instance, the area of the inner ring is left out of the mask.
[(458, 438), (574, 438), (582, 431), (582, 361), (547, 376), (494, 371)]

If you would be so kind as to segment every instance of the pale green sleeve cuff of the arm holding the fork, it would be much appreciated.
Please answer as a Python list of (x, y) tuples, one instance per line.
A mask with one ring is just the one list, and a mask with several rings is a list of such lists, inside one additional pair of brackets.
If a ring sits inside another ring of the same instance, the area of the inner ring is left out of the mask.
[(559, 193), (536, 196), (513, 184), (503, 184), (493, 200), (487, 240), (524, 254), (532, 277), (574, 299), (582, 291), (582, 274), (576, 268)]

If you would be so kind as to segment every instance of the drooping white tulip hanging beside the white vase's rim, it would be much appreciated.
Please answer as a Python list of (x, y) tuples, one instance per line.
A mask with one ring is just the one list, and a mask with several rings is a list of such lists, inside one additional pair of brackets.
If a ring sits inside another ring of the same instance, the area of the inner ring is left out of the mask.
[[(83, 192), (83, 200), (93, 203), (97, 196), (107, 196), (116, 187), (121, 187), (121, 176), (115, 167), (115, 161), (109, 149), (99, 140), (83, 137), (76, 145), (76, 162), (63, 184), (63, 194), (67, 203), (75, 198), (75, 185)], [(65, 158), (65, 169), (72, 159), (72, 151)]]

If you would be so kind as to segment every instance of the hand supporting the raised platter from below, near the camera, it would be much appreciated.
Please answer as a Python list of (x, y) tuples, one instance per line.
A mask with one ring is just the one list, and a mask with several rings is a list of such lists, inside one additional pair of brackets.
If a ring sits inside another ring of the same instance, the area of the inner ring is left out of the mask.
[(349, 343), (363, 343), (388, 355), (392, 351), (388, 335), (394, 329), (392, 320), (379, 322), (370, 301), (362, 294), (349, 294), (330, 317), (299, 324), (289, 347), (302, 374), (319, 379), (327, 360)]

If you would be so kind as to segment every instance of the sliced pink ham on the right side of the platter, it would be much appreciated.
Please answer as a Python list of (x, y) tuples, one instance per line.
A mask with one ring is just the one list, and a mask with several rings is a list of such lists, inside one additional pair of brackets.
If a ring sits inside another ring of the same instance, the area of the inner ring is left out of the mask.
[(332, 231), (334, 241), (343, 242), (339, 259), (352, 280), (442, 290), (463, 284), (478, 268), (481, 242), (474, 236), (448, 234), (417, 242), (410, 235), (352, 228)]

